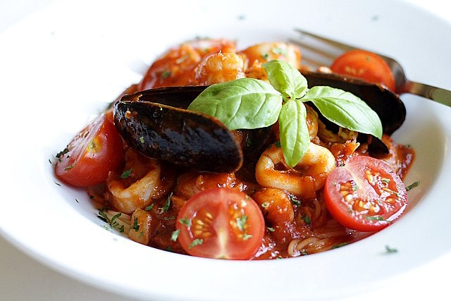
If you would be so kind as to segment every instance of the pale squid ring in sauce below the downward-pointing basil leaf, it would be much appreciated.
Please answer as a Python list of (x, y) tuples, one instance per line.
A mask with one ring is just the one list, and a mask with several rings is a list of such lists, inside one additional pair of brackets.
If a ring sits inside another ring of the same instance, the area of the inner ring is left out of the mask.
[(333, 168), (333, 154), (326, 147), (313, 142), (310, 142), (307, 152), (295, 168), (289, 168), (285, 164), (282, 149), (273, 145), (261, 154), (255, 167), (255, 178), (263, 187), (286, 190), (293, 195), (309, 199), (315, 197), (316, 191), (323, 188), (326, 177)]

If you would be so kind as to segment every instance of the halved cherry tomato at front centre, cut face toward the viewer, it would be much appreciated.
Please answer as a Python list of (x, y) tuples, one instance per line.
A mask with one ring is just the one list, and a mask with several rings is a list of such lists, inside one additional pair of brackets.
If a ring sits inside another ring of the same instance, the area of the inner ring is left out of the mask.
[(210, 188), (180, 209), (178, 241), (197, 257), (251, 259), (261, 246), (264, 225), (259, 206), (244, 192)]

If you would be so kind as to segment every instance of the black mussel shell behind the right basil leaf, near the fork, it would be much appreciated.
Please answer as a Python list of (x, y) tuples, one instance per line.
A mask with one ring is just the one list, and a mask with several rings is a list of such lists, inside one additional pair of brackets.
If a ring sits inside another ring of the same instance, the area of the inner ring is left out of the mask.
[(404, 123), (406, 108), (401, 99), (381, 85), (333, 73), (302, 71), (302, 75), (307, 78), (309, 87), (330, 86), (360, 97), (381, 118), (383, 133), (391, 135)]

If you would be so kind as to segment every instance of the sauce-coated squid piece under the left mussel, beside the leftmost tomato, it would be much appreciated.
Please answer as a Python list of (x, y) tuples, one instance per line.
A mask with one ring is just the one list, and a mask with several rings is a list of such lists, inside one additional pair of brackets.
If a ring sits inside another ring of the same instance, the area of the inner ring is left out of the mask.
[(105, 199), (118, 211), (130, 214), (144, 209), (154, 199), (166, 195), (175, 183), (175, 176), (169, 170), (162, 171), (156, 159), (127, 149), (125, 162), (122, 175), (110, 172), (106, 179)]

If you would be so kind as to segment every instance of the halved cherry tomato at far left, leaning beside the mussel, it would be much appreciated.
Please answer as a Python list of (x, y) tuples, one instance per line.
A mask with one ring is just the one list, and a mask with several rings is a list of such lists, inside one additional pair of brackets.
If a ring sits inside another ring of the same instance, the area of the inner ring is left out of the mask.
[(70, 185), (97, 185), (119, 167), (123, 155), (121, 135), (110, 118), (101, 114), (57, 155), (55, 174)]

